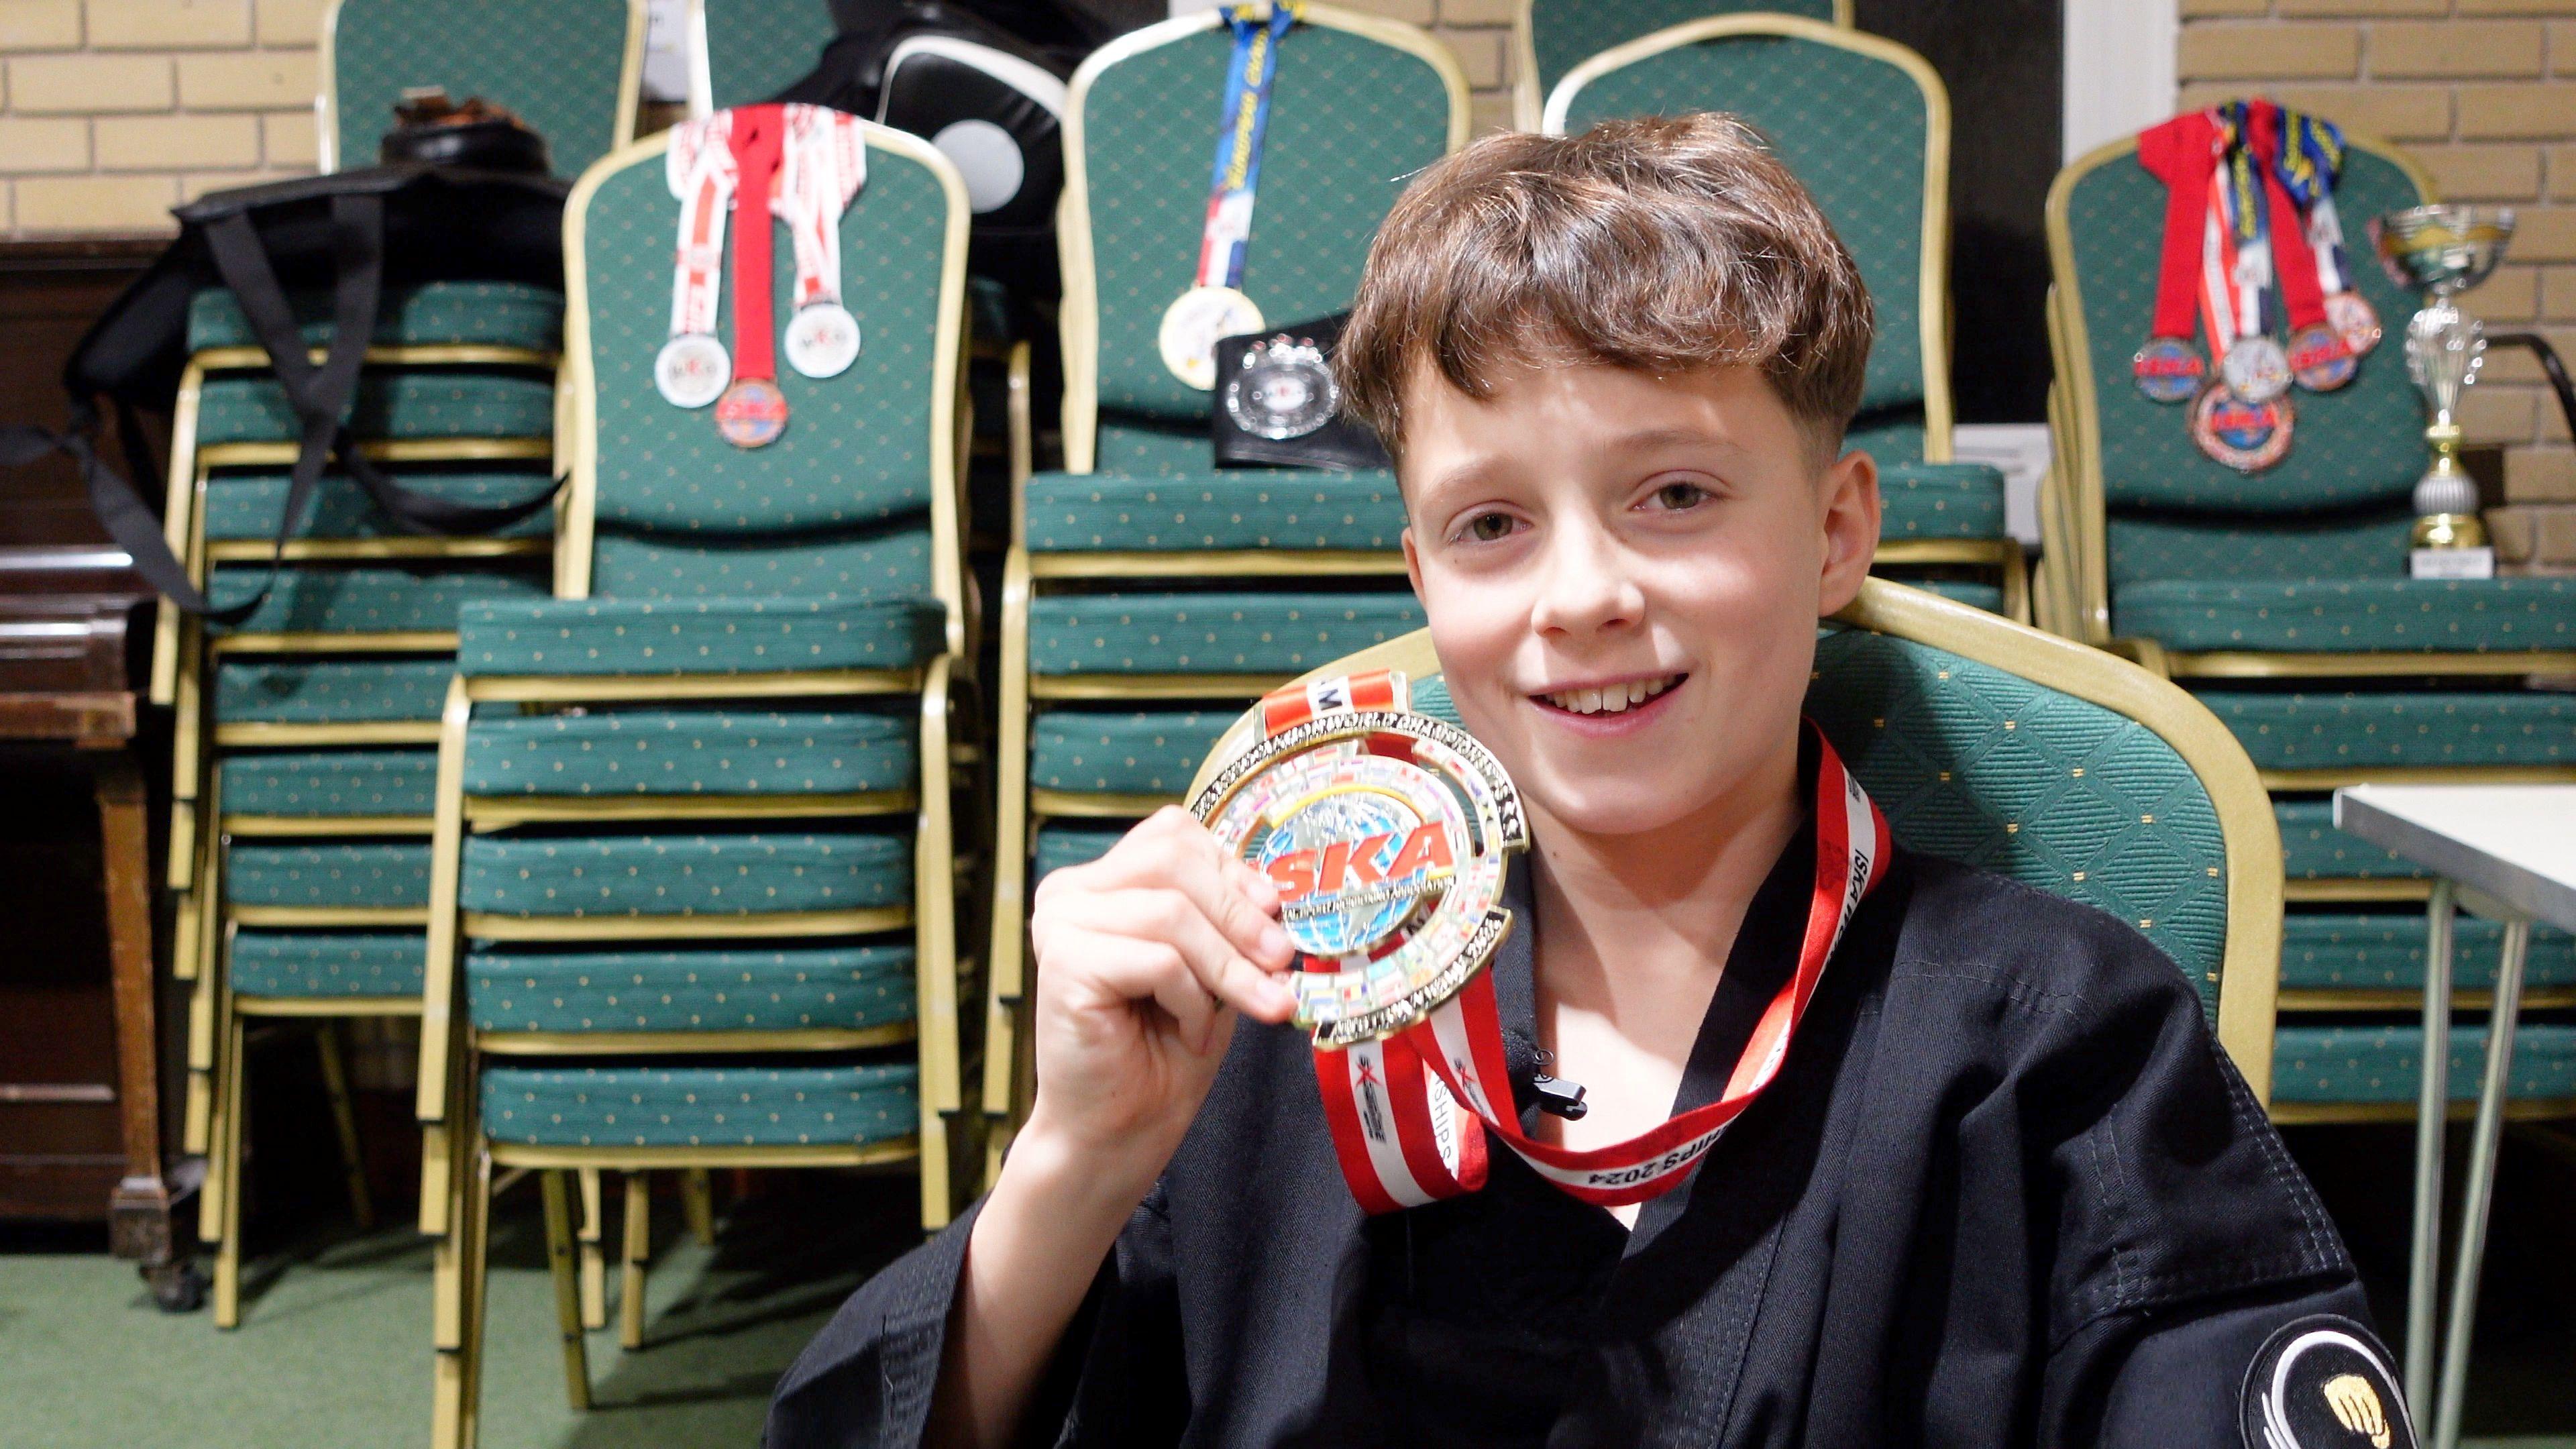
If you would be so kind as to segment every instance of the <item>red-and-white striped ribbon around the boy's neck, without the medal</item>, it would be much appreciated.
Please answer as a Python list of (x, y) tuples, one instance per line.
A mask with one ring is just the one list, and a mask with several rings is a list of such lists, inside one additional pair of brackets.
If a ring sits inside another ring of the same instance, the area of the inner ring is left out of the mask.
[[(1262, 699), (1262, 735), (1278, 735), (1337, 709), (1404, 709), (1404, 694), (1401, 676), (1388, 670), (1288, 686)], [(1610, 1147), (1574, 1150), (1525, 1137), (1502, 1057), (1494, 980), (1492, 972), (1476, 972), (1466, 990), (1437, 1006), (1427, 1021), (1383, 1042), (1314, 1052), (1334, 1155), (1363, 1209), (1399, 1212), (1481, 1189), (1486, 1132), (1582, 1201), (1623, 1207), (1682, 1183), (1726, 1127), (1780, 1075), (1824, 964), (1888, 861), (1886, 817), (1842, 768), (1832, 740), (1814, 722), (1806, 730), (1816, 740), (1816, 884), (1798, 969), (1762, 1013), (1718, 1101)], [(1309, 962), (1309, 969), (1319, 967), (1337, 962)], [(1466, 1111), (1458, 1111), (1461, 1106)]]

